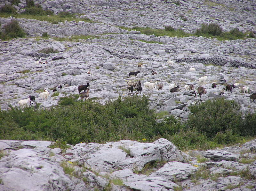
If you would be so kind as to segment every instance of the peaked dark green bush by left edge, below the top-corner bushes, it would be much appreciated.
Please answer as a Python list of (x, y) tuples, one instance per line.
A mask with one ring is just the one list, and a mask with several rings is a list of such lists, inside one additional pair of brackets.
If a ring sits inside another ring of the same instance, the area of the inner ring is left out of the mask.
[[(26, 33), (20, 28), (18, 21), (12, 19), (10, 23), (4, 26), (4, 35), (5, 39), (8, 38), (17, 38), (17, 37), (24, 37)], [(3, 35), (1, 36), (2, 39)]]

